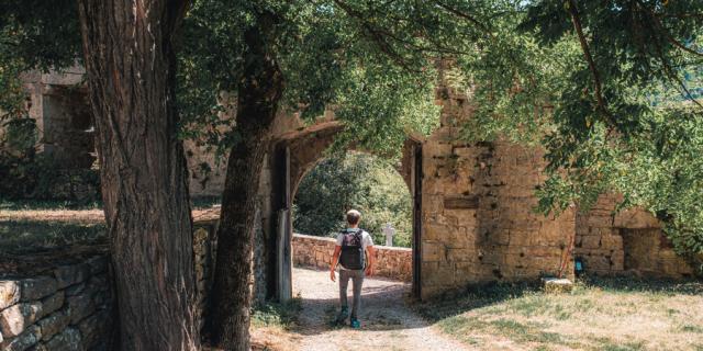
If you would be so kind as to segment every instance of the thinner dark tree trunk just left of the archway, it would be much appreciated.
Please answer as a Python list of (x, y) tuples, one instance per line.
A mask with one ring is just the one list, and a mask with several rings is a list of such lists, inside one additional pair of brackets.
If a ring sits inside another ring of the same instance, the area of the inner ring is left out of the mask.
[(249, 350), (252, 247), (256, 195), (270, 126), (282, 92), (278, 64), (267, 47), (272, 25), (245, 33), (245, 66), (237, 94), (236, 131), (242, 139), (227, 160), (210, 315), (211, 341), (226, 350)]

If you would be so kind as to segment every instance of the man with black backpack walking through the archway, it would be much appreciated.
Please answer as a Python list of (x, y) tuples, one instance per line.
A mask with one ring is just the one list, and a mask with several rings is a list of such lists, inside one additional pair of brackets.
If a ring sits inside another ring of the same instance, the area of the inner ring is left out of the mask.
[[(349, 316), (347, 304), (347, 286), (349, 279), (354, 283), (354, 301), (352, 305), (352, 328), (360, 328), (359, 310), (361, 308), (361, 285), (364, 275), (373, 274), (376, 254), (373, 251), (373, 240), (368, 231), (359, 228), (361, 213), (356, 210), (347, 212), (347, 228), (337, 235), (337, 245), (332, 256), (330, 267), (330, 279), (334, 282), (335, 269), (339, 263), (339, 305), (342, 310), (337, 316), (337, 322), (343, 324)], [(368, 258), (368, 262), (367, 262)]]

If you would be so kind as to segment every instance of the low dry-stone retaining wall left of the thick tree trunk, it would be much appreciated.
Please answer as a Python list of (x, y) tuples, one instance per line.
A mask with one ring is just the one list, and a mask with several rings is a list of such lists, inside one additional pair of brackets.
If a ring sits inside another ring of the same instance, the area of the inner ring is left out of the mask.
[(114, 314), (109, 282), (105, 256), (0, 279), (2, 350), (103, 350)]

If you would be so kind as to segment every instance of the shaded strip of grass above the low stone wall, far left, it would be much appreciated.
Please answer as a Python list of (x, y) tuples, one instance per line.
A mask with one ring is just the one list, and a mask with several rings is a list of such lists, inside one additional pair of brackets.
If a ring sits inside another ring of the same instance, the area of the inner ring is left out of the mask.
[(0, 250), (30, 252), (75, 244), (99, 244), (105, 239), (103, 224), (1, 220)]

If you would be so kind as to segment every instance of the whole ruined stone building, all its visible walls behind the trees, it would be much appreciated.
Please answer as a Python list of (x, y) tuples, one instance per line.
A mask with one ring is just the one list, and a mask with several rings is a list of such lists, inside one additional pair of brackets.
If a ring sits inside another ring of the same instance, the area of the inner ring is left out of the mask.
[[(32, 116), (43, 127), (44, 150), (67, 165), (89, 167), (90, 116), (85, 90), (71, 84), (80, 72), (31, 76)], [(466, 143), (461, 121), (471, 117), (471, 103), (450, 90), (438, 94), (440, 126), (429, 136), (409, 137), (399, 172), (413, 196), (413, 293), (429, 297), (468, 284), (534, 280), (556, 274), (573, 262), (588, 274), (634, 272), (643, 275), (689, 276), (650, 214), (632, 210), (613, 215), (615, 196), (603, 196), (588, 213), (569, 208), (545, 217), (533, 211), (535, 189), (546, 178), (543, 150), (505, 140)], [(279, 116), (274, 143), (259, 184), (254, 287), (259, 298), (291, 297), (291, 205), (303, 176), (324, 157), (343, 128), (321, 120), (305, 125)], [(187, 145), (193, 195), (217, 195), (224, 165), (211, 154)], [(197, 170), (203, 162), (213, 172), (207, 186)], [(569, 251), (570, 242), (576, 242)], [(566, 260), (563, 258), (566, 257)]]

